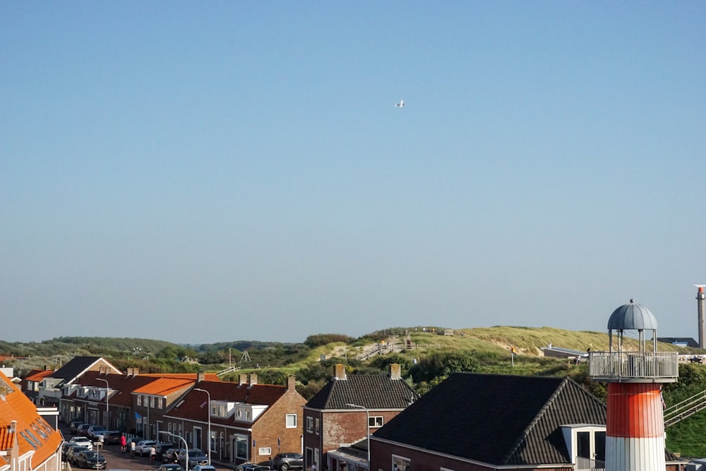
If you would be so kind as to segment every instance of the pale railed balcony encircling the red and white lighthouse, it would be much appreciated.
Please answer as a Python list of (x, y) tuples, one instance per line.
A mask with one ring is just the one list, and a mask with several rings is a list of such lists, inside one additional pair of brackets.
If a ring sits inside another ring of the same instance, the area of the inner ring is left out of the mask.
[(674, 383), (679, 357), (677, 352), (589, 352), (588, 374), (609, 383)]

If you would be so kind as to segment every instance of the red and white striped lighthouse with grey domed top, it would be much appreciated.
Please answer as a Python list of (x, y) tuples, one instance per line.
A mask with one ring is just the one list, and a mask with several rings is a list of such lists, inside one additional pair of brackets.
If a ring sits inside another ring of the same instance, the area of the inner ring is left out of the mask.
[(657, 318), (633, 299), (613, 311), (608, 334), (608, 352), (589, 352), (589, 375), (608, 383), (606, 471), (664, 471), (662, 383), (678, 378), (677, 352), (657, 352)]

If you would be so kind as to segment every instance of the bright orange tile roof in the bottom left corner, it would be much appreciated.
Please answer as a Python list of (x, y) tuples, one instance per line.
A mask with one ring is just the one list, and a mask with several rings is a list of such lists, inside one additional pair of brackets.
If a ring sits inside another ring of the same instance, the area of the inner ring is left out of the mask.
[[(37, 413), (37, 407), (15, 386), (7, 376), (0, 372), (0, 383), (4, 383), (5, 395), (0, 398), (0, 451), (8, 451), (15, 437), (19, 453), (23, 455), (34, 451), (30, 467), (40, 467), (47, 458), (59, 451), (61, 433), (52, 429)], [(10, 431), (11, 422), (16, 421), (16, 430)], [(8, 455), (0, 458), (8, 460)]]

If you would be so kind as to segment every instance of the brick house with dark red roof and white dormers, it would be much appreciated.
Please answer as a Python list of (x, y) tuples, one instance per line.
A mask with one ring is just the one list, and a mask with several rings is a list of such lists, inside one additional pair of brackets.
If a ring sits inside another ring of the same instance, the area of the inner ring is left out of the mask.
[[(241, 374), (238, 383), (199, 381), (164, 413), (166, 434), (201, 448), (213, 460), (261, 463), (277, 453), (301, 451), (302, 407), (294, 376), (287, 386), (258, 384)], [(210, 429), (210, 433), (209, 433)]]

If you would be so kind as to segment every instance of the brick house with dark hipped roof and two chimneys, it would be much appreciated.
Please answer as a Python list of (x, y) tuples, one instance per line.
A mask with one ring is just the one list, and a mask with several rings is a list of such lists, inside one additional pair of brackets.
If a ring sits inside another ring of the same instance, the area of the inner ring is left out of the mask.
[(367, 468), (369, 434), (418, 398), (399, 364), (389, 375), (347, 375), (345, 365), (335, 365), (335, 376), (304, 406), (304, 467)]

